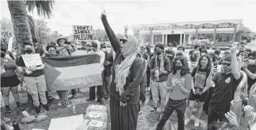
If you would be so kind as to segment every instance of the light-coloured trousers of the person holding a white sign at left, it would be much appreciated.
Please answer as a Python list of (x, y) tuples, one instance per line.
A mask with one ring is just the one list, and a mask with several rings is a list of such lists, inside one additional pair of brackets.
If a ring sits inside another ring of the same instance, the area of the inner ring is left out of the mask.
[(40, 75), (38, 77), (24, 77), (24, 80), (27, 85), (27, 93), (32, 96), (33, 105), (40, 106), (39, 98), (43, 105), (47, 104), (45, 96), (45, 91), (47, 90), (45, 75)]

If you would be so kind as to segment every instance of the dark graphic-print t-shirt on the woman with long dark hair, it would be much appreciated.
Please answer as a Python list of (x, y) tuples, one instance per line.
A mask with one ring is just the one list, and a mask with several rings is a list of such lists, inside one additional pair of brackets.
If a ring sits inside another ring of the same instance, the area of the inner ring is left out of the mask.
[(191, 77), (194, 78), (194, 87), (203, 90), (206, 87), (206, 80), (210, 74), (211, 70), (209, 69), (198, 69), (197, 67), (193, 68)]

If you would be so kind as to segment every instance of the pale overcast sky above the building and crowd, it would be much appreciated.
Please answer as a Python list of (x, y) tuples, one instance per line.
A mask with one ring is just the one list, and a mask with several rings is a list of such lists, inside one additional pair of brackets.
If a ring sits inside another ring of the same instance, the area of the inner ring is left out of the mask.
[[(7, 0), (0, 0), (2, 17), (11, 19)], [(115, 33), (123, 33), (128, 24), (196, 22), (243, 19), (245, 27), (256, 32), (256, 1), (61, 1), (53, 6), (53, 17), (45, 19), (51, 31), (68, 36), (72, 25), (91, 25), (104, 29), (100, 15), (105, 9)], [(30, 14), (30, 13), (28, 13)], [(30, 14), (35, 19), (37, 11)]]

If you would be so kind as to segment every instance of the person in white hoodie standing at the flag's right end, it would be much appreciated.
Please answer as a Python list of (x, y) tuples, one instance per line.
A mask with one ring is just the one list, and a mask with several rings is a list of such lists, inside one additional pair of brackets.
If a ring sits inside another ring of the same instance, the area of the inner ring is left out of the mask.
[[(97, 54), (100, 55), (100, 70), (102, 73), (102, 81), (104, 81), (104, 61), (105, 61), (105, 52), (100, 50), (100, 42), (97, 40), (92, 41), (92, 50), (88, 52), (88, 54)], [(103, 85), (97, 86), (97, 102), (100, 104), (104, 104), (102, 98), (104, 96)], [(95, 100), (95, 86), (89, 88), (89, 98), (87, 101), (94, 101)]]

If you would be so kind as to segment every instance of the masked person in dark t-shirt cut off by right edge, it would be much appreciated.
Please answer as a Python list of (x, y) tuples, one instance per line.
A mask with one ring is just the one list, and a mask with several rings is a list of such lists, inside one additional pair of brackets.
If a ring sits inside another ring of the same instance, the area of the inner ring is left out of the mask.
[(248, 62), (242, 63), (242, 70), (247, 73), (247, 91), (250, 92), (250, 88), (256, 82), (256, 51), (252, 51), (248, 54)]

